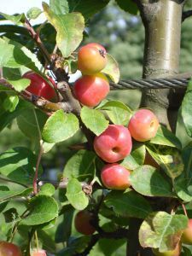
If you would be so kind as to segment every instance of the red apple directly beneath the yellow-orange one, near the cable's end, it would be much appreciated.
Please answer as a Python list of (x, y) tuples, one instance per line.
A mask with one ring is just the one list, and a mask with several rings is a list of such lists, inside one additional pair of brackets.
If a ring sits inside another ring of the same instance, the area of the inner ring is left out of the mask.
[(74, 95), (84, 106), (95, 107), (108, 95), (108, 79), (102, 73), (85, 75), (74, 84)]

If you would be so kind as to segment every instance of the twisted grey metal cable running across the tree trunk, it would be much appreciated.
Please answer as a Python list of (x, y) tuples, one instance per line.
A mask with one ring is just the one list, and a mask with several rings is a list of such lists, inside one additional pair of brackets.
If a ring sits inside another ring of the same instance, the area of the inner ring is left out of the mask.
[(131, 79), (110, 83), (111, 90), (128, 89), (186, 89), (189, 79)]

